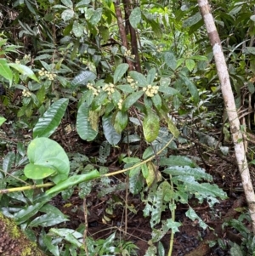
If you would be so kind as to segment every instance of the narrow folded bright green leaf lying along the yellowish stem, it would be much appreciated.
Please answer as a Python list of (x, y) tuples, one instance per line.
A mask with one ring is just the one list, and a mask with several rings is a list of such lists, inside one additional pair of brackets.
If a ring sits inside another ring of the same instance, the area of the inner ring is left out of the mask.
[(71, 176), (68, 179), (65, 179), (64, 181), (59, 182), (58, 185), (55, 185), (53, 188), (46, 191), (47, 195), (54, 194), (56, 192), (64, 191), (65, 189), (71, 187), (72, 185), (77, 185), (82, 182), (91, 180), (91, 179), (97, 179), (100, 177), (100, 174), (97, 170), (93, 170), (89, 172), (88, 174), (78, 174)]

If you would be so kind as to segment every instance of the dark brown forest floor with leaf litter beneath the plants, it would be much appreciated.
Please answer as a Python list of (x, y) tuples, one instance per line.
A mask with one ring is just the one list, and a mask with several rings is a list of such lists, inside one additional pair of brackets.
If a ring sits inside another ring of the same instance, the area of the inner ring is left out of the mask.
[[(8, 125), (5, 128), (3, 127), (3, 130), (7, 128)], [(53, 138), (65, 148), (65, 151), (71, 153), (79, 152), (86, 156), (97, 156), (99, 145), (82, 141), (74, 132), (63, 135), (61, 130), (63, 129), (59, 128)], [(178, 154), (195, 156), (199, 159), (201, 152), (205, 150), (200, 143), (196, 144), (194, 141), (193, 139), (189, 149), (178, 151)], [(122, 168), (118, 166), (116, 161), (118, 153), (113, 150), (111, 155), (108, 156), (108, 162), (111, 162), (109, 164), (110, 170)], [(176, 154), (177, 152), (175, 151), (174, 153)], [(231, 228), (222, 230), (221, 228), (225, 220), (238, 218), (240, 213), (235, 210), (236, 208), (246, 207), (241, 188), (241, 177), (235, 164), (235, 154), (233, 151), (229, 151), (229, 156), (224, 157), (217, 152), (211, 151), (207, 152), (207, 155), (207, 161), (205, 159), (201, 161), (201, 168), (205, 168), (207, 173), (212, 175), (214, 183), (224, 189), (229, 197), (226, 200), (219, 201), (213, 208), (209, 208), (207, 202), (199, 204), (197, 200), (190, 199), (190, 207), (194, 208), (195, 212), (209, 226), (206, 230), (201, 229), (196, 221), (186, 217), (185, 212), (188, 210), (188, 205), (177, 205), (176, 221), (181, 222), (182, 226), (179, 227), (179, 231), (174, 236), (173, 256), (230, 255), (228, 242), (231, 240), (232, 242), (241, 243), (241, 237), (235, 230)], [(116, 179), (125, 180), (125, 177), (125, 175), (119, 175)], [(114, 208), (113, 213), (107, 213), (108, 202), (112, 196), (127, 200), (128, 205), (132, 205), (137, 213), (127, 211), (126, 222), (124, 221), (125, 207), (123, 205)], [(138, 255), (143, 256), (145, 254), (148, 242), (151, 239), (151, 228), (150, 219), (144, 218), (144, 203), (139, 196), (132, 196), (131, 194), (126, 196), (126, 190), (120, 190), (99, 197), (98, 191), (94, 189), (87, 196), (87, 203), (88, 236), (93, 236), (94, 239), (104, 239), (116, 230), (120, 234), (119, 236), (139, 247)], [(68, 200), (63, 200), (61, 196), (54, 197), (52, 204), (69, 216), (70, 221), (65, 224), (65, 227), (77, 229), (79, 225), (84, 223), (83, 201), (78, 196), (77, 191), (74, 191)], [(163, 212), (161, 219), (169, 218), (171, 218), (170, 211)], [(127, 230), (126, 234), (124, 232), (125, 229)], [(161, 239), (166, 252), (169, 248), (170, 235), (169, 232)], [(219, 247), (218, 243), (214, 247), (208, 246), (208, 242), (217, 241), (218, 238), (223, 239), (226, 245), (225, 250)]]

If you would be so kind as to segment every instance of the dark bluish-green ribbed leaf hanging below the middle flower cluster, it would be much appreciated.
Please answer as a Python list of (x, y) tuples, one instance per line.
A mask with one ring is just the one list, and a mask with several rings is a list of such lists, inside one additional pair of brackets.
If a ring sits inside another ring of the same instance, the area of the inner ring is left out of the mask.
[(122, 135), (116, 132), (116, 129), (112, 125), (111, 120), (112, 120), (112, 116), (108, 116), (108, 117), (104, 116), (102, 118), (103, 130), (104, 130), (105, 138), (107, 139), (107, 141), (111, 145), (117, 145), (122, 139)]

